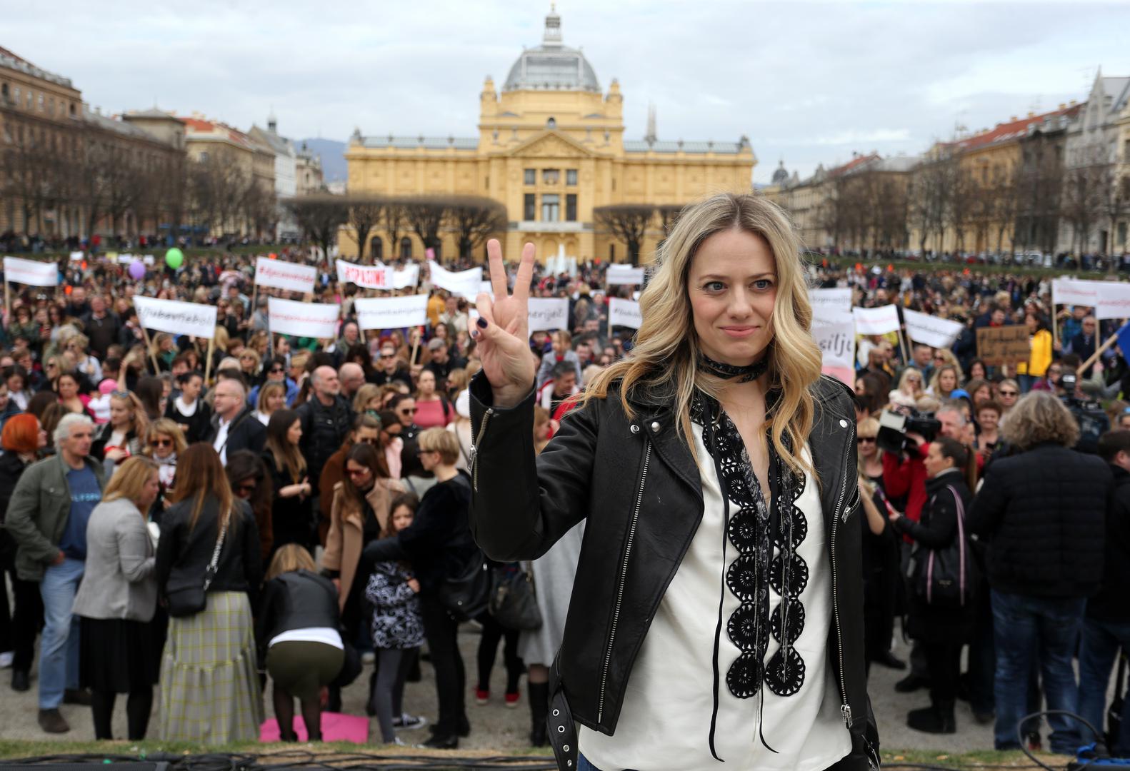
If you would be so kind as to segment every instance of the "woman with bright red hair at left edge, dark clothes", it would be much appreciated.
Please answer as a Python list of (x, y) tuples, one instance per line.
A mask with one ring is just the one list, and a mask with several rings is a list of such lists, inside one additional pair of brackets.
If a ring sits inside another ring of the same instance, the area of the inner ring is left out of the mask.
[[(20, 474), (35, 463), (38, 452), (47, 446), (47, 432), (33, 414), (12, 415), (0, 433), (0, 525), (8, 514), (8, 501)], [(7, 529), (0, 528), (0, 570), (11, 578), (16, 606), (9, 614), (8, 592), (0, 592), (0, 657), (11, 657), (11, 687), (28, 689), (28, 672), (35, 657), (35, 636), (43, 625), (43, 598), (37, 581), (25, 581), (16, 575), (16, 541)], [(0, 573), (0, 588), (3, 578)]]

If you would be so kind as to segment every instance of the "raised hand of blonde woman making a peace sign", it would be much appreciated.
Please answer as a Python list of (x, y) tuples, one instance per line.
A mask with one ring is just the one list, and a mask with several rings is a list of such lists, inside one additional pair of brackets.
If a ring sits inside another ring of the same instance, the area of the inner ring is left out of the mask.
[(533, 244), (522, 248), (514, 293), (506, 286), (506, 266), (502, 262), (498, 239), (487, 242), (490, 261), (490, 284), (494, 299), (486, 292), (478, 296), (479, 318), (471, 330), (478, 343), (479, 359), (486, 373), (494, 401), (498, 406), (518, 404), (533, 388), (537, 359), (530, 351), (529, 299), (533, 279)]

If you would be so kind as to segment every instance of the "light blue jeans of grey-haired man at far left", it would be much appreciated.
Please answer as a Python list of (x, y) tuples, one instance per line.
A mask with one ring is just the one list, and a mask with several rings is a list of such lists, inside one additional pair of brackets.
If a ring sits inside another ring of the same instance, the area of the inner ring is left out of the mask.
[(40, 639), (40, 709), (55, 709), (63, 690), (78, 687), (78, 616), (71, 613), (86, 563), (67, 558), (43, 573)]

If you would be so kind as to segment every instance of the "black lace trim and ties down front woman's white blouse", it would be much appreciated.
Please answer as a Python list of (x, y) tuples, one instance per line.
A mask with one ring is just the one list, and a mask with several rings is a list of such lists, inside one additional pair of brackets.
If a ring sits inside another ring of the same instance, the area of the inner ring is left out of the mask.
[[(808, 520), (797, 506), (805, 491), (806, 478), (793, 473), (770, 444), (771, 505), (765, 503), (757, 475), (741, 435), (719, 403), (696, 392), (690, 415), (702, 427), (703, 444), (714, 462), (722, 493), (722, 579), (718, 603), (718, 625), (714, 630), (714, 707), (711, 713), (710, 750), (721, 761), (714, 747), (718, 722), (721, 672), (719, 647), (722, 627), (741, 655), (725, 673), (725, 685), (738, 699), (759, 695), (758, 737), (775, 752), (762, 734), (764, 683), (779, 696), (791, 696), (805, 683), (805, 660), (793, 647), (805, 629), (805, 606), (800, 595), (808, 585), (808, 564), (797, 549), (808, 534)], [(731, 516), (731, 501), (738, 510)], [(738, 550), (733, 564), (727, 566), (727, 547)], [(770, 614), (770, 587), (781, 597)], [(738, 598), (738, 610), (723, 619), (727, 592)], [(770, 634), (780, 648), (765, 663)]]

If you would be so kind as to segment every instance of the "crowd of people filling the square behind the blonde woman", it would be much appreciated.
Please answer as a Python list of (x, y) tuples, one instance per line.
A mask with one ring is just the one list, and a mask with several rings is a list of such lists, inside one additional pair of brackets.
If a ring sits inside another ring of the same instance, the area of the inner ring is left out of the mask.
[[(280, 257), (316, 262), (297, 248)], [(426, 326), (363, 332), (350, 300), (364, 290), (322, 273), (305, 299), (342, 304), (336, 339), (272, 334), (267, 295), (289, 295), (257, 291), (253, 263), (198, 257), (133, 280), (90, 257), (60, 264), (58, 291), (15, 288), (0, 340), (11, 687), (32, 687), (38, 654), (44, 731), (69, 730), (60, 706), (84, 704), (96, 737), (112, 738), (123, 693), (139, 739), (159, 684), (160, 736), (217, 744), (259, 736), (269, 689), (281, 738), (296, 738), (301, 716), (318, 739), (321, 711), (340, 710), (372, 651), (374, 733), (401, 743), (398, 731), (427, 724), (402, 708), (426, 646), (438, 715), (424, 744), (450, 748), (471, 730), (468, 692), (495, 695), (502, 643), (503, 703), (520, 702), (525, 676), (530, 739), (546, 744), (584, 526), (532, 564), (488, 562), (498, 580), (532, 575), (541, 624), (478, 612), (471, 687), (444, 601), (479, 554), (470, 304), (425, 281)], [(1017, 726), (1043, 698), (1102, 729), (1113, 663), (1130, 650), (1130, 365), (1116, 347), (1099, 352), (1113, 326), (1054, 308), (1050, 282), (1028, 275), (814, 268), (810, 279), (853, 288), (855, 305), (965, 325), (950, 348), (909, 341), (903, 353), (883, 335), (858, 347), (867, 659), (909, 668), (902, 692), (929, 690), (907, 724), (954, 733), (964, 699), (976, 721), (996, 721), (998, 748), (1038, 746), (1037, 721), (1023, 739)], [(631, 288), (609, 290), (590, 263), (539, 271), (531, 291), (570, 300), (568, 328), (529, 341), (540, 452), (585, 386), (631, 353), (632, 331), (607, 319), (607, 298)], [(214, 344), (146, 333), (136, 293), (215, 305)], [(976, 330), (1009, 324), (1027, 326), (1029, 359), (986, 365)], [(894, 652), (899, 631), (909, 662)], [(1069, 717), (1048, 722), (1054, 751), (1089, 741)]]

